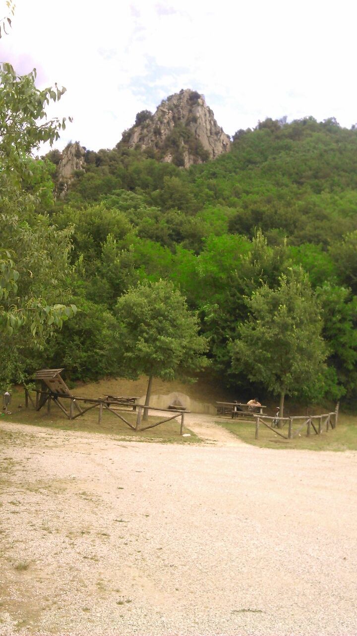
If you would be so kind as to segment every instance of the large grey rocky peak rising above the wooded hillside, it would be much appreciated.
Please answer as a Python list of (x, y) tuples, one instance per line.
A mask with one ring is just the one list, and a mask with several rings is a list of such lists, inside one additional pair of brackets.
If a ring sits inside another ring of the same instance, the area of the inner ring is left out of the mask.
[(156, 113), (138, 113), (135, 125), (123, 133), (121, 144), (151, 150), (161, 161), (188, 168), (227, 152), (231, 140), (217, 124), (203, 95), (182, 89), (163, 100)]

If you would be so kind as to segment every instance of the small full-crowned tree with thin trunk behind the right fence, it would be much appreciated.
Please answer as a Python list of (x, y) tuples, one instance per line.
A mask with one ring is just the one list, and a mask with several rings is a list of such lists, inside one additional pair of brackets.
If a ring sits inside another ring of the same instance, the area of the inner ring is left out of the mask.
[(280, 395), (283, 417), (285, 395), (323, 391), (327, 350), (319, 306), (302, 270), (281, 276), (276, 289), (264, 284), (246, 304), (250, 316), (232, 343), (232, 366)]

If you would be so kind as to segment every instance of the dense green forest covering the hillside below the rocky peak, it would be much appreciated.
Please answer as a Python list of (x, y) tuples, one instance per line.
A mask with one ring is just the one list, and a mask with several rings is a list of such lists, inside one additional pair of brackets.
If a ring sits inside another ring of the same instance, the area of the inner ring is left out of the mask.
[[(198, 315), (210, 373), (260, 395), (257, 374), (236, 360), (253, 298), (299, 288), (314, 315), (307, 337), (321, 339), (323, 353), (314, 378), (302, 364), (306, 382), (295, 373), (290, 394), (295, 386), (306, 399), (356, 397), (357, 130), (333, 119), (267, 119), (239, 130), (229, 153), (189, 170), (119, 142), (86, 151), (85, 172), (64, 198), (55, 196), (57, 163), (58, 151), (27, 157), (21, 214), (33, 232), (45, 226), (60, 242), (53, 284), (77, 315), (42, 349), (22, 348), (22, 375), (41, 365), (64, 366), (72, 380), (121, 375), (118, 299), (140, 282), (166, 279)], [(280, 355), (279, 342), (271, 356)], [(11, 373), (17, 380), (17, 369)]]

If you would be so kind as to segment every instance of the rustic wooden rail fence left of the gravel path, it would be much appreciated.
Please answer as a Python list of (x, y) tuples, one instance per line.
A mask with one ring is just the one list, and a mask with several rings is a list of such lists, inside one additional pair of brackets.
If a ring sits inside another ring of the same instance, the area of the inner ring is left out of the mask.
[[(176, 418), (180, 418), (180, 435), (182, 435), (184, 431), (185, 413), (190, 412), (190, 411), (183, 411), (182, 409), (175, 410), (172, 408), (170, 409), (156, 408), (155, 406), (145, 406), (145, 404), (135, 404), (135, 405), (128, 404), (128, 406), (130, 405), (132, 406), (133, 410), (137, 411), (137, 420), (134, 425), (131, 422), (128, 422), (128, 420), (124, 417), (124, 415), (121, 412), (119, 412), (120, 409), (118, 408), (118, 406), (122, 406), (122, 405), (121, 404), (119, 405), (118, 400), (116, 400), (115, 398), (108, 399), (108, 398), (99, 397), (98, 399), (92, 399), (89, 397), (74, 397), (72, 395), (68, 395), (65, 393), (39, 391), (38, 389), (36, 389), (36, 404), (34, 404), (34, 401), (32, 400), (32, 397), (30, 396), (29, 389), (25, 389), (25, 407), (26, 408), (29, 408), (29, 400), (32, 403), (32, 406), (34, 406), (34, 408), (36, 409), (36, 411), (39, 411), (47, 402), (48, 413), (50, 413), (51, 403), (53, 402), (54, 404), (56, 404), (56, 406), (58, 406), (58, 408), (62, 411), (62, 413), (64, 413), (64, 415), (69, 420), (75, 420), (76, 417), (80, 417), (81, 415), (84, 415), (84, 413), (86, 413), (87, 411), (90, 411), (92, 408), (98, 408), (99, 409), (98, 424), (101, 424), (102, 417), (103, 417), (103, 410), (106, 409), (107, 411), (110, 411), (111, 413), (113, 413), (113, 415), (116, 415), (116, 417), (118, 417), (133, 431), (147, 431), (148, 429), (152, 429), (155, 426), (159, 426), (159, 424), (165, 424), (165, 422), (170, 422), (170, 420), (175, 420)], [(63, 400), (70, 400), (69, 410), (68, 408), (65, 407)], [(81, 403), (81, 405), (79, 403)], [(89, 406), (84, 406), (85, 404), (89, 404)], [(77, 413), (75, 413), (74, 411), (75, 408), (78, 411)], [(160, 420), (159, 422), (155, 422), (154, 424), (148, 424), (147, 426), (140, 427), (140, 424), (142, 424), (142, 415), (144, 410), (145, 411), (149, 411), (149, 410), (162, 411), (165, 413), (170, 413), (171, 417), (166, 417), (163, 420)]]

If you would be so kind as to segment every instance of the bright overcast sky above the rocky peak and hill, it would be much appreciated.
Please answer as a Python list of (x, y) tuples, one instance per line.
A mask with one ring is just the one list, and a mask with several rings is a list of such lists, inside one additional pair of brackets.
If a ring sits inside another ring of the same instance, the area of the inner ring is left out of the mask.
[(0, 61), (67, 88), (51, 110), (74, 118), (58, 148), (112, 148), (181, 88), (203, 93), (231, 135), (267, 116), (351, 127), (356, 18), (345, 0), (16, 0)]

